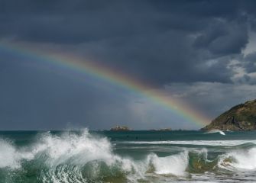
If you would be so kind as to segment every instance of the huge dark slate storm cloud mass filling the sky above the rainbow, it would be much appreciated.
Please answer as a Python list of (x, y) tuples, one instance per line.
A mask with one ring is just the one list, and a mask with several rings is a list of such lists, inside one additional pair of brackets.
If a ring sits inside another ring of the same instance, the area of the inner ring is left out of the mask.
[[(230, 82), (223, 66), (198, 66), (240, 54), (248, 43), (253, 2), (1, 1), (2, 39), (76, 45), (150, 84)], [(82, 46), (84, 47), (82, 47)], [(207, 73), (211, 72), (211, 75)]]

